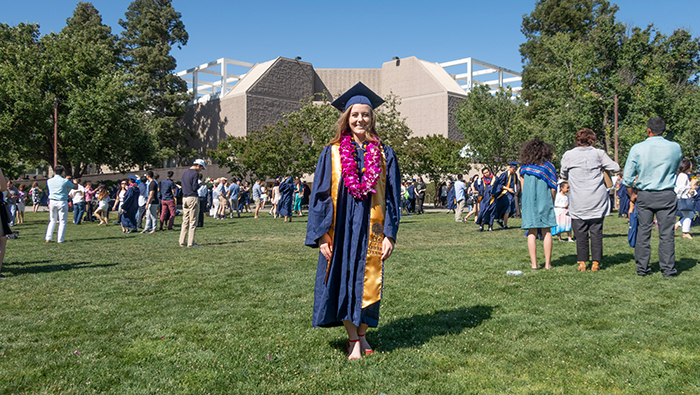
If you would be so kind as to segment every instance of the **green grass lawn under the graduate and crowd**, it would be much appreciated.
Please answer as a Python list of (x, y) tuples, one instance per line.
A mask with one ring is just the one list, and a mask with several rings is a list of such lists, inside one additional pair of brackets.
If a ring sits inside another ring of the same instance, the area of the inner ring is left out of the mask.
[(0, 281), (1, 394), (700, 393), (700, 235), (679, 231), (677, 278), (654, 242), (654, 275), (636, 275), (617, 217), (601, 271), (559, 242), (531, 271), (520, 229), (404, 217), (375, 353), (348, 362), (343, 329), (311, 327), (306, 217), (207, 218), (181, 248), (180, 217), (153, 235), (69, 223), (59, 245), (48, 214), (26, 216)]

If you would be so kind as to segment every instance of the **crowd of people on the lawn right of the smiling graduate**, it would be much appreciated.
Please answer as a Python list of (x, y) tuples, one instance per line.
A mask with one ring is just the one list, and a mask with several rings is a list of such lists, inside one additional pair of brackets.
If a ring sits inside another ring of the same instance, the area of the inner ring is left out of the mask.
[[(576, 147), (564, 153), (558, 172), (552, 164), (552, 147), (540, 140), (529, 141), (522, 147), (520, 161), (509, 162), (498, 176), (484, 167), (469, 182), (461, 174), (454, 182), (448, 180), (444, 190), (448, 213), (454, 212), (456, 222), (467, 222), (474, 215), (478, 231), (493, 231), (494, 223), (508, 229), (508, 218), (518, 213), (532, 269), (539, 269), (538, 239), (543, 241), (544, 267), (551, 268), (552, 240), (557, 236), (559, 241), (576, 243), (579, 271), (588, 270), (589, 262), (590, 270), (598, 271), (603, 260), (604, 218), (614, 209), (617, 196), (619, 216), (634, 216), (638, 221), (631, 230), (638, 234), (638, 241), (631, 242), (638, 274), (650, 273), (649, 237), (651, 227), (657, 226), (662, 274), (674, 276), (674, 231), (681, 228), (682, 237), (692, 239), (690, 227), (700, 212), (698, 180), (692, 177), (692, 162), (682, 158), (680, 146), (663, 138), (665, 120), (654, 117), (647, 126), (647, 139), (632, 148), (624, 171), (605, 151), (595, 148), (596, 135), (591, 129), (576, 133)], [(663, 155), (654, 155), (654, 150)], [(463, 216), (465, 208), (468, 214)]]

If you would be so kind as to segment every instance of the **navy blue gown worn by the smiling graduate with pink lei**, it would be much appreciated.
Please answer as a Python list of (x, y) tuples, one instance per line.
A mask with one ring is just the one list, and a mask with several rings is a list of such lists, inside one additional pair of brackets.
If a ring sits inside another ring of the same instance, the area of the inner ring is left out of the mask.
[[(383, 233), (395, 241), (401, 213), (401, 175), (394, 150), (386, 145), (383, 148), (387, 171)], [(360, 169), (364, 167), (364, 149), (357, 145), (356, 149)], [(362, 308), (371, 195), (356, 200), (348, 192), (341, 177), (336, 201), (337, 213), (334, 213), (330, 191), (332, 169), (331, 146), (326, 146), (316, 164), (309, 197), (305, 244), (318, 248), (318, 241), (330, 230), (334, 215), (335, 233), (328, 281), (325, 281), (328, 261), (320, 252), (318, 256), (313, 326), (340, 326), (343, 321), (352, 321), (357, 326), (367, 324), (376, 327), (379, 323), (380, 302)]]

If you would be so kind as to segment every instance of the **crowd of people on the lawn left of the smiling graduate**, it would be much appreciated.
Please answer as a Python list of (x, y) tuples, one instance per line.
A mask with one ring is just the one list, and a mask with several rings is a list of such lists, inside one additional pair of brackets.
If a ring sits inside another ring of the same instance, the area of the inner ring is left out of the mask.
[[(259, 210), (265, 209), (266, 202), (272, 202), (270, 215), (275, 218), (284, 217), (285, 222), (291, 221), (293, 215), (302, 216), (302, 205), (308, 204), (310, 188), (298, 177), (275, 179), (272, 182), (275, 186), (269, 188), (268, 193), (262, 180), (257, 180), (252, 187), (248, 182), (236, 179), (228, 181), (225, 177), (205, 180), (201, 174), (205, 169), (202, 159), (197, 159), (193, 167), (196, 169), (189, 170), (197, 172), (196, 185), (191, 185), (194, 192), (183, 184), (191, 181), (192, 174), (188, 178), (183, 173), (183, 178), (176, 182), (172, 171), (167, 172), (164, 180), (159, 180), (159, 175), (151, 170), (140, 178), (130, 175), (113, 188), (105, 184), (93, 186), (91, 182), (83, 183), (80, 179), (64, 177), (65, 170), (62, 166), (54, 169), (54, 176), (46, 182), (45, 192), (37, 182), (28, 191), (24, 184), (15, 186), (9, 180), (7, 183), (0, 182), (4, 187), (3, 205), (8, 211), (7, 224), (13, 227), (24, 223), (25, 201), (30, 198), (34, 212), (39, 210), (43, 200), (48, 207), (50, 219), (45, 236), (47, 243), (53, 240), (57, 225), (56, 241), (65, 241), (66, 224), (71, 210), (75, 225), (97, 222), (98, 226), (109, 226), (109, 215), (114, 211), (117, 216), (114, 224), (119, 225), (123, 233), (140, 230), (141, 233), (152, 234), (173, 230), (175, 217), (188, 212), (184, 204), (187, 197), (196, 197), (197, 205), (201, 208), (196, 211), (195, 227), (204, 226), (205, 215), (224, 219), (227, 214), (233, 218), (234, 211), (239, 218), (241, 212), (253, 212), (251, 201), (255, 202), (255, 218), (258, 218)], [(193, 196), (189, 196), (191, 194)], [(178, 199), (183, 202), (182, 211), (177, 210)]]

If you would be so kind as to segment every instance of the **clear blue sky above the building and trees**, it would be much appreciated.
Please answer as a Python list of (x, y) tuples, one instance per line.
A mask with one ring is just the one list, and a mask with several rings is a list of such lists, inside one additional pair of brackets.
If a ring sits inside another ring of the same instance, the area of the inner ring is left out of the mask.
[[(38, 23), (41, 33), (65, 26), (77, 1), (4, 0), (0, 22)], [(650, 23), (664, 34), (677, 28), (700, 35), (700, 1), (619, 0), (618, 20)], [(103, 23), (118, 22), (130, 0), (94, 0)], [(173, 0), (189, 33), (174, 48), (177, 71), (218, 58), (262, 63), (278, 56), (315, 68), (380, 68), (394, 56), (431, 62), (473, 57), (511, 70), (522, 69), (520, 25), (535, 0), (501, 1), (223, 1)]]

